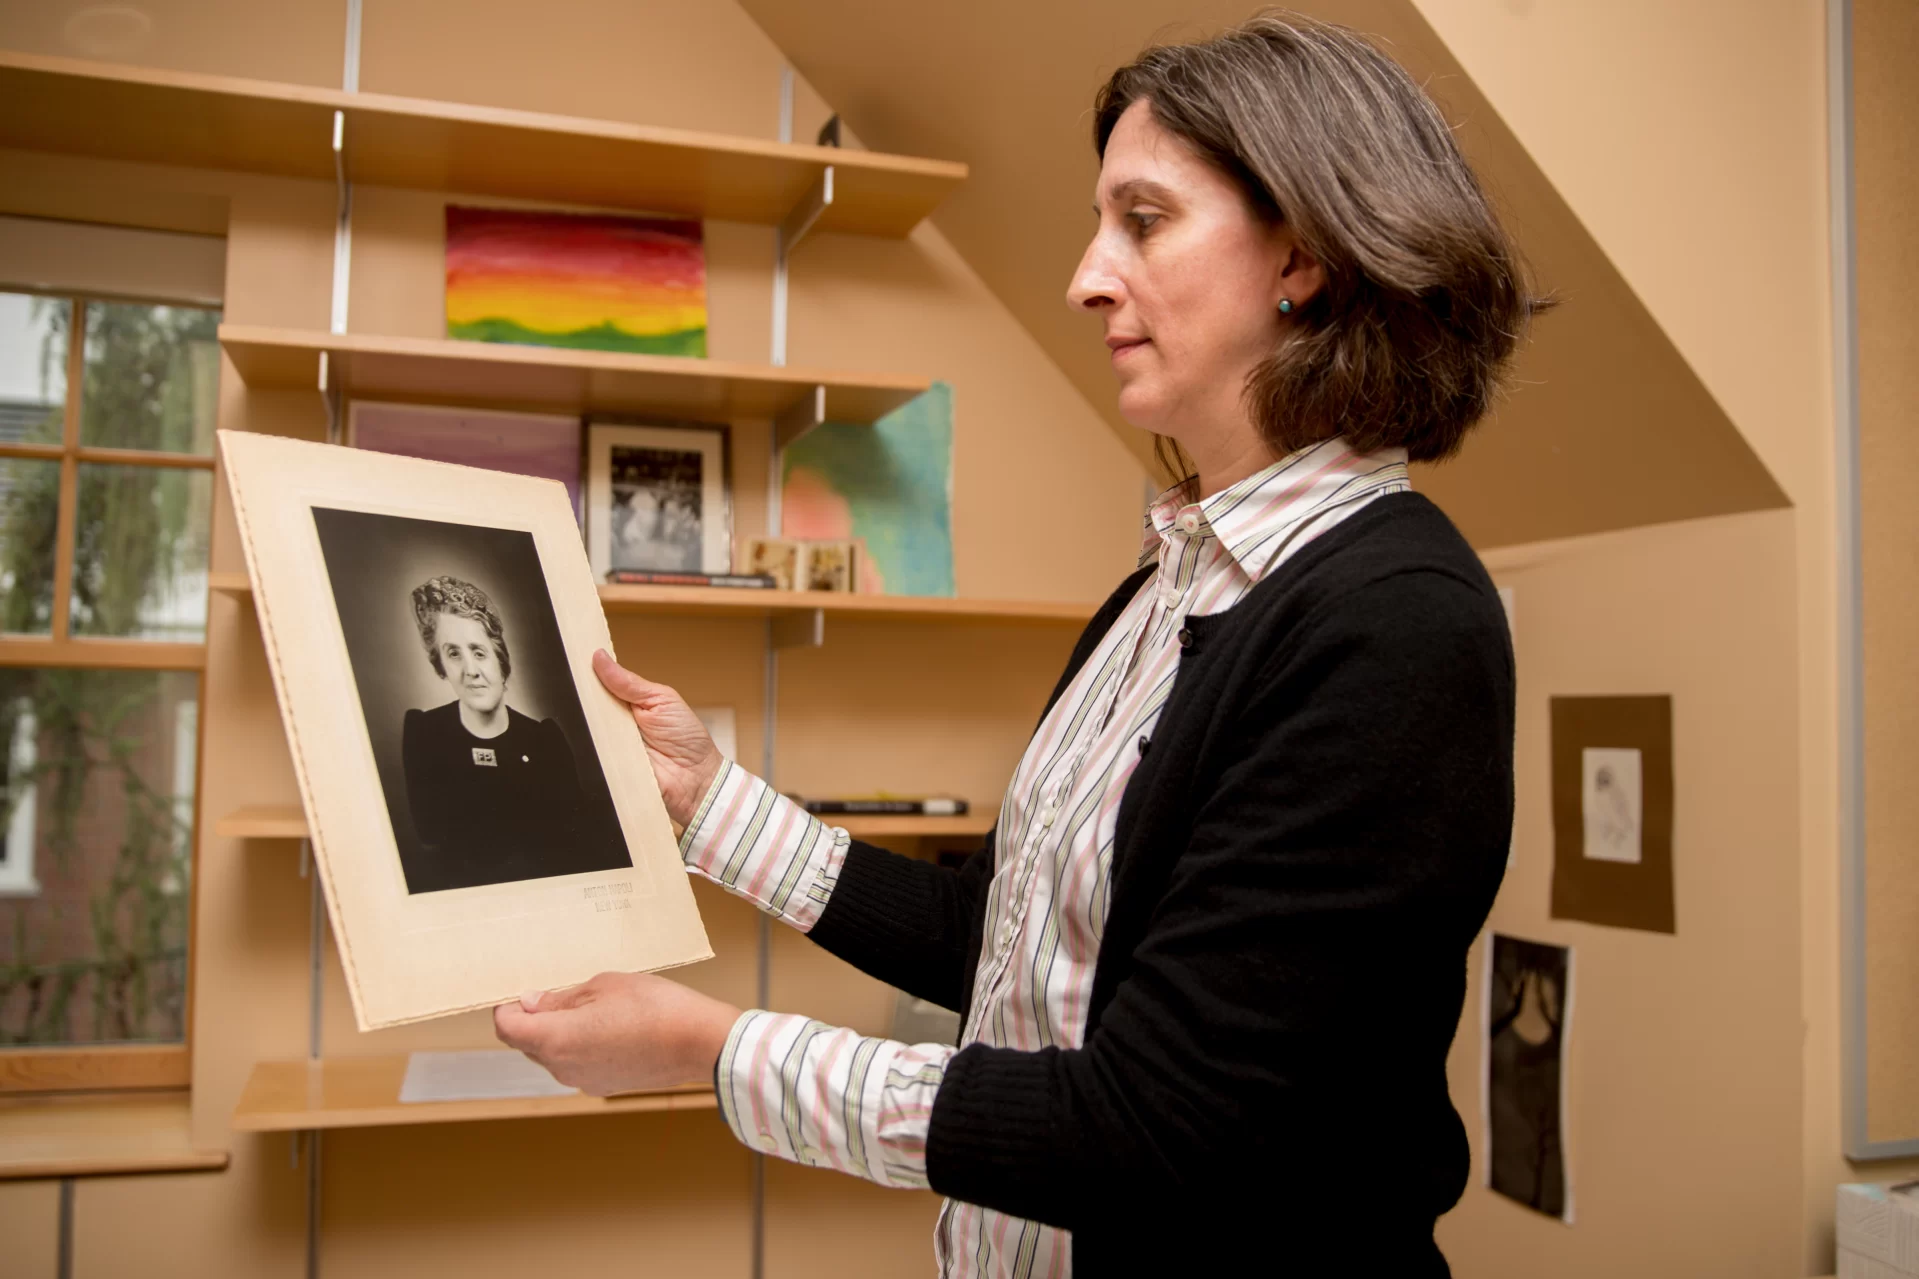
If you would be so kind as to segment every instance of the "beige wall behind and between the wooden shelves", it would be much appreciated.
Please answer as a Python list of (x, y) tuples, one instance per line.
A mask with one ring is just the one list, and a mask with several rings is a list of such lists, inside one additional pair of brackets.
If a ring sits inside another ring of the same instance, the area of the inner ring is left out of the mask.
[[(0, 46), (75, 54), (63, 23), (83, 8), (10, 6)], [(144, 8), (154, 31), (129, 60), (338, 83), (340, 4)], [(361, 83), (771, 138), (779, 67), (779, 50), (733, 4), (368, 0)], [(802, 83), (796, 108), (796, 133), (810, 136), (827, 106)], [(236, 323), (324, 328), (332, 204), (324, 184), (0, 154), (0, 213), (223, 230)], [(353, 330), (441, 332), (443, 204), (357, 192)], [(766, 227), (708, 229), (716, 357), (768, 359), (771, 244)], [(791, 323), (796, 365), (954, 384), (960, 593), (1098, 599), (1130, 568), (1138, 465), (931, 227), (904, 242), (810, 240), (793, 261)], [(324, 417), (317, 396), (253, 394), (228, 376), (221, 424), (315, 436)], [(733, 422), (739, 536), (764, 528), (768, 434), (764, 421)], [(1006, 519), (1019, 511), (1044, 520)], [(217, 567), (240, 565), (225, 511), (213, 555)], [(758, 622), (620, 616), (614, 641), (697, 705), (735, 707), (741, 755), (758, 764)], [(1061, 628), (835, 622), (825, 649), (783, 663), (777, 774), (831, 789), (952, 787), (990, 807), (1069, 643)], [(228, 599), (213, 601), (209, 620), (205, 716), (205, 814), (296, 799), (255, 622)], [(296, 864), (286, 843), (203, 835), (194, 1131), (230, 1148), (232, 1168), (81, 1183), (75, 1273), (301, 1273), (305, 1173), (290, 1139), (228, 1129), (251, 1064), (305, 1052), (309, 889)], [(706, 887), (699, 901), (718, 956), (681, 976), (750, 1004), (756, 918)], [(775, 947), (773, 1002), (864, 1031), (890, 1016), (885, 987), (796, 937)], [(328, 1054), (491, 1045), (487, 1020), (472, 1016), (361, 1035), (330, 945), (322, 1033)], [(768, 1275), (925, 1273), (935, 1206), (925, 1193), (773, 1170)], [(0, 1185), (10, 1279), (52, 1273), (54, 1212), (52, 1185)], [(322, 1214), (330, 1275), (745, 1275), (748, 1158), (714, 1112), (340, 1131), (324, 1141)], [(804, 1252), (823, 1239), (842, 1244), (831, 1264)], [(848, 1239), (860, 1246), (846, 1250)]]

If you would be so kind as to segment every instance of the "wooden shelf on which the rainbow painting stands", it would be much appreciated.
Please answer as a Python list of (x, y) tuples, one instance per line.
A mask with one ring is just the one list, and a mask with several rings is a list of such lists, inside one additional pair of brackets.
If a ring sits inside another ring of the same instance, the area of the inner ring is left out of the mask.
[(823, 421), (867, 424), (933, 386), (927, 378), (775, 369), (723, 359), (259, 325), (221, 325), (221, 346), (240, 380), (253, 390), (320, 390), (324, 353), (326, 376), (349, 398), (560, 413), (781, 419), (812, 409), (810, 398), (823, 388)]

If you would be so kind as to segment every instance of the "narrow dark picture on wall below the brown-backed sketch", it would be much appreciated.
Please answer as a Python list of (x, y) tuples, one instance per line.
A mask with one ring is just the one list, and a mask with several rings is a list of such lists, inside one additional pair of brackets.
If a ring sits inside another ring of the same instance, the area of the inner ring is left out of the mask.
[(1491, 933), (1485, 966), (1487, 1185), (1572, 1221), (1566, 1031), (1572, 949)]

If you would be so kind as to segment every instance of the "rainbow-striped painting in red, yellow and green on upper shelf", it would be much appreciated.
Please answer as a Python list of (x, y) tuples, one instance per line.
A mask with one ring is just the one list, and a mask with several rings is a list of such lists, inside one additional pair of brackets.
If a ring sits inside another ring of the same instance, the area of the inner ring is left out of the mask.
[(700, 223), (447, 205), (447, 336), (706, 355)]

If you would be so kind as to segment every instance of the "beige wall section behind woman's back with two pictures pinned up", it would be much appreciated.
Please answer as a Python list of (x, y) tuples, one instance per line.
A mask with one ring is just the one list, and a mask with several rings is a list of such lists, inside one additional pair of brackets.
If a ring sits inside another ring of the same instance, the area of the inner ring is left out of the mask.
[[(1472, 1185), (1474, 1279), (1787, 1279), (1798, 1269), (1796, 591), (1790, 513), (1493, 551), (1514, 591), (1518, 814), (1491, 928), (1574, 949), (1572, 1227)], [(1785, 570), (1783, 570), (1785, 568)], [(1673, 935), (1549, 918), (1549, 699), (1673, 697)], [(1481, 960), (1451, 1060), (1485, 1168)]]

